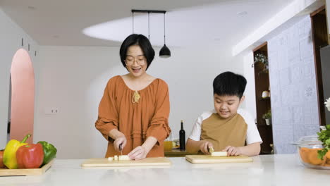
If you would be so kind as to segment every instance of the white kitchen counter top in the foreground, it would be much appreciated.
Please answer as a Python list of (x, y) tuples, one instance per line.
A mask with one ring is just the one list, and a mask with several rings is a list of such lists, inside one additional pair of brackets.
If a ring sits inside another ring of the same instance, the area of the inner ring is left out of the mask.
[(329, 185), (330, 170), (300, 165), (295, 154), (262, 155), (252, 163), (192, 164), (169, 158), (171, 166), (81, 168), (84, 159), (56, 159), (39, 176), (0, 177), (0, 185)]

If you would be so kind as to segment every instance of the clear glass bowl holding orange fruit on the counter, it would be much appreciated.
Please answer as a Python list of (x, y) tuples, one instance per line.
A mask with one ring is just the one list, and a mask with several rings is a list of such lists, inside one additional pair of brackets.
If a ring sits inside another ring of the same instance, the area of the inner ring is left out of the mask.
[(322, 142), (317, 136), (305, 136), (297, 143), (297, 150), (300, 163), (307, 168), (330, 170), (330, 151), (322, 159), (317, 158), (317, 151), (322, 149)]

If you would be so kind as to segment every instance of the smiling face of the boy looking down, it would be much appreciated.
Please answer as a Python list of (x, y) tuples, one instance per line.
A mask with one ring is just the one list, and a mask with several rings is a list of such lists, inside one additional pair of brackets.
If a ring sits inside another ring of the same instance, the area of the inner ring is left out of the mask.
[(237, 113), (238, 106), (244, 101), (244, 96), (219, 96), (214, 94), (214, 109), (221, 118), (230, 118)]

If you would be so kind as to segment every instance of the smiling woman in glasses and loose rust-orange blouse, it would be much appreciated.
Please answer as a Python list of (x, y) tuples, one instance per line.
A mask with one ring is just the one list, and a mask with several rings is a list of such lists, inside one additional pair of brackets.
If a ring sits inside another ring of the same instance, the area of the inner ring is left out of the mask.
[(169, 136), (169, 88), (146, 73), (154, 49), (143, 35), (130, 35), (121, 44), (126, 75), (112, 77), (99, 104), (95, 127), (108, 140), (106, 157), (127, 154), (130, 159), (164, 156)]

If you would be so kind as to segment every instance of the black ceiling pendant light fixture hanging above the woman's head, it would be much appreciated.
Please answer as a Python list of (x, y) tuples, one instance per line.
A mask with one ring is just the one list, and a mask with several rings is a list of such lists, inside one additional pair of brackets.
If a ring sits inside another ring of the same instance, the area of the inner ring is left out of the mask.
[(164, 46), (161, 47), (160, 51), (159, 51), (159, 57), (161, 58), (169, 58), (171, 57), (171, 51), (169, 50), (169, 47), (166, 46), (166, 36), (165, 36), (165, 13), (166, 11), (152, 11), (152, 10), (132, 10), (133, 13), (133, 33), (134, 33), (134, 13), (138, 12), (138, 13), (148, 13), (148, 38), (150, 39), (150, 34), (149, 34), (149, 13), (163, 13), (164, 14)]

